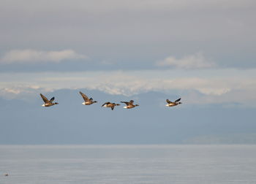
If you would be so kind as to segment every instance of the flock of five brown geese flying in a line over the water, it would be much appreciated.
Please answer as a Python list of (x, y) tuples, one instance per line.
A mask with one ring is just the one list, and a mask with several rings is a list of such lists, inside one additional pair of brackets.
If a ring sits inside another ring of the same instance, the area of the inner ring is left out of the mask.
[[(88, 98), (88, 96), (86, 96), (84, 93), (82, 93), (81, 91), (79, 91), (80, 95), (83, 97), (83, 103), (84, 105), (91, 105), (94, 103), (97, 103), (97, 101), (94, 101), (94, 99), (92, 98)], [(42, 93), (40, 93), (40, 96), (42, 97), (42, 100), (45, 102), (45, 104), (42, 104), (43, 107), (50, 107), (53, 106), (55, 104), (59, 104), (58, 102), (53, 102), (54, 101), (54, 97), (51, 98), (50, 100), (48, 100), (45, 96), (42, 95)], [(139, 106), (138, 104), (133, 104), (133, 100), (130, 101), (120, 101), (121, 103), (126, 104), (126, 106), (124, 106), (125, 109), (132, 109), (134, 107)], [(181, 98), (180, 99), (176, 99), (176, 101), (170, 101), (168, 99), (166, 99), (167, 104), (165, 106), (167, 107), (173, 107), (176, 106), (178, 104), (181, 104)], [(102, 107), (110, 107), (111, 110), (114, 110), (114, 108), (116, 106), (118, 106), (120, 104), (116, 104), (116, 103), (112, 103), (110, 101), (105, 102), (104, 104), (102, 104)]]

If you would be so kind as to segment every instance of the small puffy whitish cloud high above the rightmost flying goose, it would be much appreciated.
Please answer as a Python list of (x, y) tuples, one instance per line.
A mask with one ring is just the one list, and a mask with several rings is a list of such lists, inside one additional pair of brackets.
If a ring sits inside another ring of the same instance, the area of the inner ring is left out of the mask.
[(186, 55), (184, 58), (175, 58), (170, 56), (164, 61), (158, 61), (157, 66), (173, 66), (178, 69), (206, 69), (216, 66), (211, 61), (208, 61), (202, 53), (194, 55)]

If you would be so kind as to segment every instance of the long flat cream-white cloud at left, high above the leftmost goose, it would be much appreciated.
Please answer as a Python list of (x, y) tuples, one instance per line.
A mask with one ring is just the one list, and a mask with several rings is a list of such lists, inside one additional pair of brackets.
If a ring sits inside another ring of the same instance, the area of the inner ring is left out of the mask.
[(43, 50), (10, 50), (1, 58), (0, 63), (39, 63), (55, 62), (59, 63), (66, 59), (86, 58), (86, 55), (75, 53), (74, 50), (43, 51)]

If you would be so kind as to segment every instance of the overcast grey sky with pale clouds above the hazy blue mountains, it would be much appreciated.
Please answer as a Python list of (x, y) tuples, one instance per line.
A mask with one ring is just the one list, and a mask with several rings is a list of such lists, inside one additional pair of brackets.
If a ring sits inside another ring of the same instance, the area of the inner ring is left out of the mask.
[(254, 0), (0, 2), (2, 98), (89, 88), (255, 107)]

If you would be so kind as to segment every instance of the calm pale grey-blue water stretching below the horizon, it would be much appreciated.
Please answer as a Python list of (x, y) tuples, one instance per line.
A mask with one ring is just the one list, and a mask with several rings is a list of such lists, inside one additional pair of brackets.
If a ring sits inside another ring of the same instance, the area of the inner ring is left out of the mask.
[(0, 174), (1, 184), (256, 183), (256, 145), (0, 145)]

